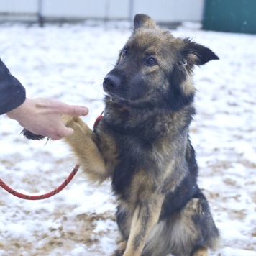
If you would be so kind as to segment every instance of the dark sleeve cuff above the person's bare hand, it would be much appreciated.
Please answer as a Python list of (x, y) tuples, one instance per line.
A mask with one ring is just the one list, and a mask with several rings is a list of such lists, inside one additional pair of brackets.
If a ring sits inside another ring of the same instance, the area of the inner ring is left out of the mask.
[(0, 60), (0, 114), (16, 109), (25, 99), (25, 88)]

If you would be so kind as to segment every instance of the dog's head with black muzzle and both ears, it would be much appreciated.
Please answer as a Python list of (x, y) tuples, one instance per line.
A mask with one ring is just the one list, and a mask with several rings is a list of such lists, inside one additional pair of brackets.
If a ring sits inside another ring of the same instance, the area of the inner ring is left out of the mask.
[(175, 38), (137, 14), (132, 36), (104, 78), (104, 91), (123, 106), (178, 110), (193, 101), (193, 67), (217, 59), (209, 48)]

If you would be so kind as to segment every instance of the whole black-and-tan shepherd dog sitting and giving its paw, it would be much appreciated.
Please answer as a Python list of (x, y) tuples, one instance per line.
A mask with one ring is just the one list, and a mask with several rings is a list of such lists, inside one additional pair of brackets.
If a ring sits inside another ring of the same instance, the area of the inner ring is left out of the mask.
[(92, 131), (63, 116), (65, 142), (93, 182), (111, 179), (122, 234), (114, 255), (206, 256), (219, 232), (196, 183), (188, 129), (195, 114), (195, 65), (219, 59), (191, 39), (175, 38), (150, 17), (134, 17), (132, 36), (104, 78), (106, 109)]

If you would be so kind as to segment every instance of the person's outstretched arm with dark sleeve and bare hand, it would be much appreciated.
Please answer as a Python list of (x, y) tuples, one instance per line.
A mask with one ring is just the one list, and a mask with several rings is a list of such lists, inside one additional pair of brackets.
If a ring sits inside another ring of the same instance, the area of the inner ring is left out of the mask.
[(34, 134), (59, 140), (73, 132), (73, 129), (64, 126), (60, 116), (85, 116), (88, 109), (53, 99), (26, 98), (22, 84), (0, 60), (0, 114), (7, 114)]

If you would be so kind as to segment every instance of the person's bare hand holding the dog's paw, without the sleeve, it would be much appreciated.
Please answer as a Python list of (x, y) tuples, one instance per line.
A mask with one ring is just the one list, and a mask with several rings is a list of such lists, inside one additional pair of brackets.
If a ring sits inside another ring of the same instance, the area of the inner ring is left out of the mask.
[(85, 106), (68, 105), (54, 99), (27, 98), (17, 109), (6, 113), (9, 118), (17, 120), (29, 132), (50, 137), (52, 140), (60, 140), (73, 133), (73, 129), (63, 124), (61, 120), (63, 114), (86, 116), (88, 109)]

